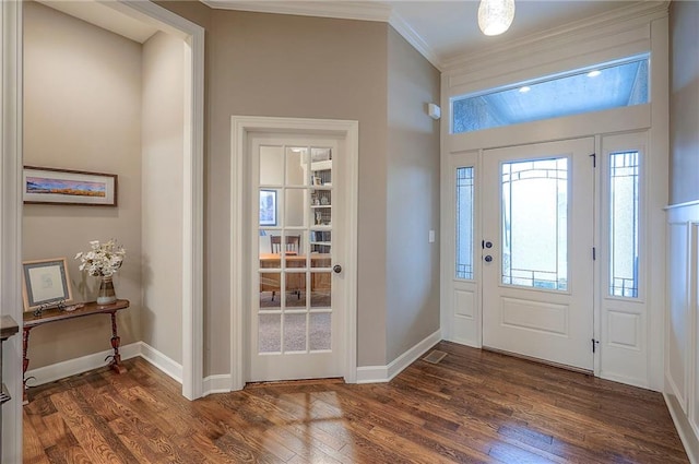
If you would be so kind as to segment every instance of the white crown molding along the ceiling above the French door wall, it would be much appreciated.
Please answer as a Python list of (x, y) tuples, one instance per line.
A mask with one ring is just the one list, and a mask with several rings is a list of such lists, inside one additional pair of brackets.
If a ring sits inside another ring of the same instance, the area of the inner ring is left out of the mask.
[(391, 7), (367, 1), (230, 1), (201, 0), (215, 10), (296, 14), (299, 16), (389, 22)]

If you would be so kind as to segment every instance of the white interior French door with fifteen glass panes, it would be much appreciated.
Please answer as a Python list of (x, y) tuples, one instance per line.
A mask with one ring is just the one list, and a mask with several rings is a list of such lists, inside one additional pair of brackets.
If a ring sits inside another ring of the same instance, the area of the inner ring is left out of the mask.
[(343, 374), (341, 146), (333, 138), (250, 138), (248, 381)]

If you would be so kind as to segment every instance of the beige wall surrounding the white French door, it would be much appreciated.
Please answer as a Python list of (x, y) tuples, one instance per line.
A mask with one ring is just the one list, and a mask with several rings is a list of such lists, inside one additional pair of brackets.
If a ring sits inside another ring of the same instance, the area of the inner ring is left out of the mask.
[(386, 365), (389, 26), (158, 4), (206, 27), (204, 376), (230, 368), (232, 115), (359, 121), (358, 362)]

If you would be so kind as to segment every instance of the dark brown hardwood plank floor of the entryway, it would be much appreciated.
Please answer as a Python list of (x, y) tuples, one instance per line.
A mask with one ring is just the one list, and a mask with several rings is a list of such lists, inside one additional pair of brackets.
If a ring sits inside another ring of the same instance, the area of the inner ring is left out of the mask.
[(451, 343), (390, 383), (194, 402), (142, 359), (29, 390), (25, 463), (688, 463), (661, 394)]

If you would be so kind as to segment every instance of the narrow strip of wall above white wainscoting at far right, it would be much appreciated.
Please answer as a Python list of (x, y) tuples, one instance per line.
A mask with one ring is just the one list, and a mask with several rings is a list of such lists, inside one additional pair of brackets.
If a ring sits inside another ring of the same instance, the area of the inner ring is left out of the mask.
[(699, 2), (673, 1), (670, 202), (699, 200)]

